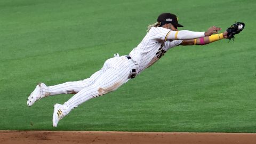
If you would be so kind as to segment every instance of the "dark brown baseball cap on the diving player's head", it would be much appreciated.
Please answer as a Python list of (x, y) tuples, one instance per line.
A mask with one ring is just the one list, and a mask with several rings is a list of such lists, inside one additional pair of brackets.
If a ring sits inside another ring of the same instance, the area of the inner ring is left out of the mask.
[(177, 15), (172, 13), (160, 14), (157, 18), (157, 21), (162, 23), (172, 23), (173, 26), (183, 27), (182, 25), (179, 24)]

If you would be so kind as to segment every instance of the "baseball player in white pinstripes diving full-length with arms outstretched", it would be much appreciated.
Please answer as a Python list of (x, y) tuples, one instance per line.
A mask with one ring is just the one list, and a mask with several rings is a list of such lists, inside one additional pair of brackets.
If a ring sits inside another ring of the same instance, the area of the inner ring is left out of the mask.
[(178, 22), (176, 15), (160, 14), (157, 22), (148, 26), (146, 36), (129, 55), (119, 57), (119, 54), (115, 54), (115, 57), (108, 59), (99, 71), (82, 81), (66, 82), (53, 86), (39, 83), (29, 95), (27, 105), (32, 106), (37, 100), (50, 95), (75, 94), (63, 105), (58, 103), (54, 105), (52, 122), (53, 126), (57, 127), (59, 120), (68, 115), (72, 109), (87, 100), (115, 91), (119, 86), (153, 65), (172, 47), (205, 45), (223, 38), (231, 39), (243, 30), (244, 23), (235, 23), (231, 26), (233, 28), (230, 27), (221, 34), (218, 34), (221, 28), (215, 26), (203, 32), (179, 31), (178, 27), (183, 26)]

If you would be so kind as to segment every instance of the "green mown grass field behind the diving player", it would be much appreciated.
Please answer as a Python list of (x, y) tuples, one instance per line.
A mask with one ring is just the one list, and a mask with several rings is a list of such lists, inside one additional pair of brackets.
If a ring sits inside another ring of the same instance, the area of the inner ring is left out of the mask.
[[(0, 2), (0, 130), (256, 132), (256, 2)], [(182, 29), (246, 26), (234, 42), (178, 46), (117, 91), (92, 99), (52, 127), (54, 103), (27, 107), (38, 82), (90, 77), (114, 53), (129, 54), (162, 12)]]

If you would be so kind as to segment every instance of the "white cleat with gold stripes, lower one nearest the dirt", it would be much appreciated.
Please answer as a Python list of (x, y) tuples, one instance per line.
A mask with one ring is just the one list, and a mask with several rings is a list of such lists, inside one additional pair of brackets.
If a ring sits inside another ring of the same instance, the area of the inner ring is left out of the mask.
[(65, 113), (63, 106), (56, 103), (54, 105), (54, 110), (53, 110), (53, 115), (52, 115), (52, 126), (57, 127), (60, 119), (62, 119), (66, 115), (67, 115), (67, 113)]

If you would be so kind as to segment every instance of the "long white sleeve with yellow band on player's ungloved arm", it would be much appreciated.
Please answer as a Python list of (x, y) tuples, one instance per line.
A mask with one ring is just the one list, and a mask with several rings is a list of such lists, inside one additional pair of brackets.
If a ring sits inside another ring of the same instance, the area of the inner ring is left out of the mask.
[(187, 40), (187, 39), (195, 39), (199, 37), (204, 37), (204, 32), (195, 32), (189, 30), (180, 30), (180, 31), (169, 31), (166, 35), (165, 41), (167, 40)]

